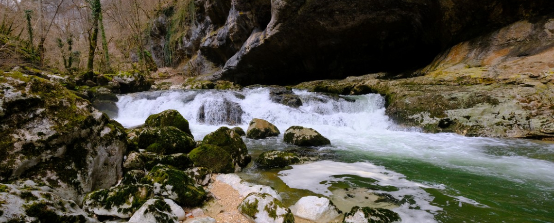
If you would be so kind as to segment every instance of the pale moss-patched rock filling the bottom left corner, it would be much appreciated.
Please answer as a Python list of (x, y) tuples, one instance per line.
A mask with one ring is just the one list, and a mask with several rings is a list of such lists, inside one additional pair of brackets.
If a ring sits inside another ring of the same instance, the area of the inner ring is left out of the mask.
[(0, 183), (0, 222), (99, 222), (73, 200), (60, 198), (50, 190), (30, 181)]

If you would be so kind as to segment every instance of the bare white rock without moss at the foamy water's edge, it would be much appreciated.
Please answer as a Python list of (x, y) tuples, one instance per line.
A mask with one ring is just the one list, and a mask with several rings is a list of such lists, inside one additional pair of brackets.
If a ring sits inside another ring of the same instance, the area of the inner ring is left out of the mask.
[(290, 210), (295, 216), (316, 223), (332, 222), (341, 217), (341, 212), (329, 199), (315, 196), (300, 198)]

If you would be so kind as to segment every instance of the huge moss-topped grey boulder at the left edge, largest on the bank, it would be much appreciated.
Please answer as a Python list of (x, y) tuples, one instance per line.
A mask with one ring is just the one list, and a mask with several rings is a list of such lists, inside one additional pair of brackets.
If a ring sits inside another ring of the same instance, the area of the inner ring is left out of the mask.
[(0, 76), (0, 182), (32, 179), (78, 204), (122, 176), (124, 128), (63, 86)]

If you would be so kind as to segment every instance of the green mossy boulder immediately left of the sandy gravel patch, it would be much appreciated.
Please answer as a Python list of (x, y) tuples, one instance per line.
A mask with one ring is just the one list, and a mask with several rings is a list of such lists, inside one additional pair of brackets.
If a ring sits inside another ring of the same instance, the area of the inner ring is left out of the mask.
[(141, 180), (154, 186), (154, 193), (175, 200), (179, 205), (197, 206), (206, 199), (206, 191), (195, 185), (186, 173), (158, 164)]

